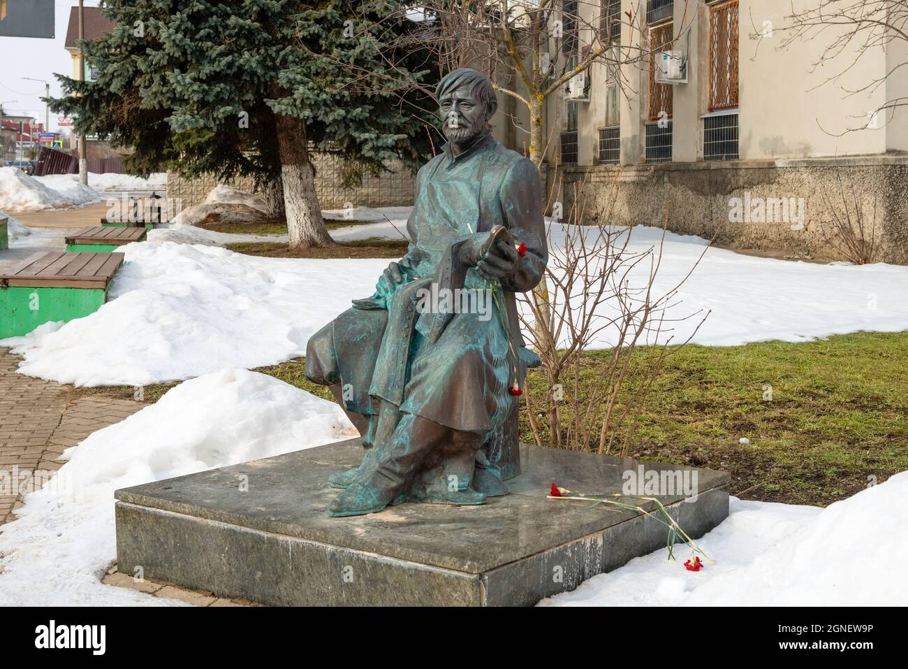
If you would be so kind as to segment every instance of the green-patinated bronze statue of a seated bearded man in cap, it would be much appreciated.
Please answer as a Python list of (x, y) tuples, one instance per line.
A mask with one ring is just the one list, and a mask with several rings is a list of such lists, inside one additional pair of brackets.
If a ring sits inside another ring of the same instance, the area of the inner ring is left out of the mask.
[(334, 516), (388, 504), (481, 504), (505, 494), (502, 457), (518, 447), (513, 417), (527, 366), (515, 293), (548, 261), (538, 171), (489, 134), (498, 103), (471, 69), (436, 93), (448, 144), (417, 177), (410, 246), (357, 300), (313, 335), (306, 376), (331, 386), (364, 454)]

